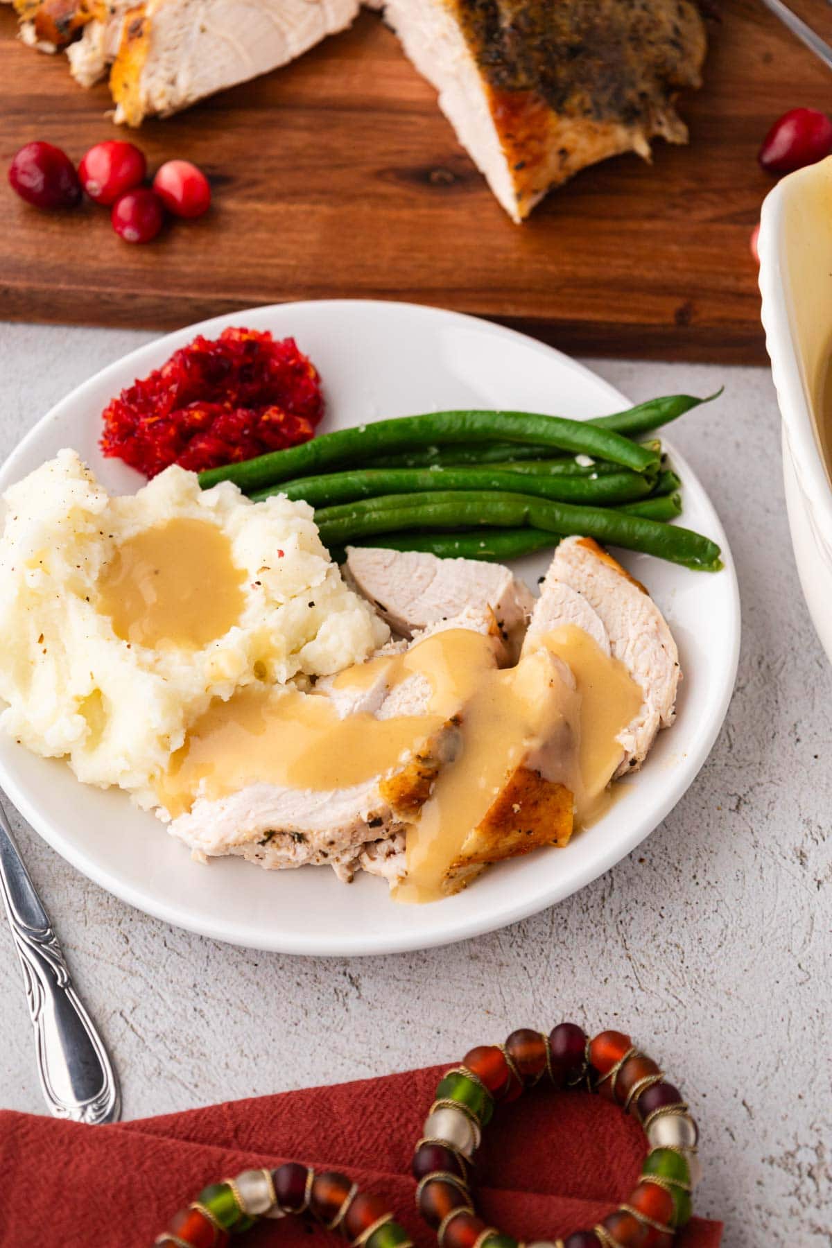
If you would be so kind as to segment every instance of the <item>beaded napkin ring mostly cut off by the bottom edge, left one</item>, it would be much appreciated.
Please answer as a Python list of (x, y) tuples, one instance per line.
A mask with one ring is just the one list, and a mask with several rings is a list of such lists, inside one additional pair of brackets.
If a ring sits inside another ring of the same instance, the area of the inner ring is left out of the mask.
[(248, 1231), (261, 1218), (307, 1213), (328, 1231), (339, 1229), (352, 1248), (413, 1248), (379, 1197), (363, 1194), (346, 1174), (316, 1174), (296, 1162), (273, 1171), (243, 1171), (203, 1188), (155, 1243), (158, 1248), (225, 1248), (230, 1236)]

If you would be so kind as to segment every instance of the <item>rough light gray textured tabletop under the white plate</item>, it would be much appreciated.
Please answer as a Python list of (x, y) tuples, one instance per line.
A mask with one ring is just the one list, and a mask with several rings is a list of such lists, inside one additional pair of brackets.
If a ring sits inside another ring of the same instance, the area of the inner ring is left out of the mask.
[[(0, 453), (147, 336), (0, 327)], [(777, 411), (761, 369), (600, 362), (635, 399), (726, 397), (674, 431), (717, 503), (743, 640), (725, 729), (672, 815), (555, 909), (468, 945), (306, 961), (147, 919), (15, 827), (119, 1065), (127, 1117), (459, 1058), (515, 1026), (632, 1031), (702, 1127), (697, 1207), (727, 1248), (832, 1244), (832, 671), (795, 573)], [(0, 927), (0, 1088), (41, 1112)]]

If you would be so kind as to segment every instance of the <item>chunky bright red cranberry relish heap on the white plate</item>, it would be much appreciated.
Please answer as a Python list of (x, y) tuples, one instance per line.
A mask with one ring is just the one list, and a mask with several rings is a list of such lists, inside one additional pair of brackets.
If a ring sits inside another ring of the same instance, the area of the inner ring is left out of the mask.
[(104, 412), (101, 449), (155, 477), (308, 442), (323, 416), (318, 371), (293, 338), (223, 329), (176, 351)]

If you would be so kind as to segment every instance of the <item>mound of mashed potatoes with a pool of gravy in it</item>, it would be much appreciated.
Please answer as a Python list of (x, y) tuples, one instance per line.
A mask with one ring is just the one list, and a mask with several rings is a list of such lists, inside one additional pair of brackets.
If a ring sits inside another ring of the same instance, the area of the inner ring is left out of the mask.
[(145, 806), (212, 698), (358, 663), (388, 636), (312, 508), (168, 468), (111, 498), (72, 451), (5, 495), (0, 728)]

